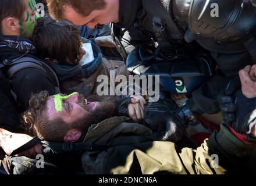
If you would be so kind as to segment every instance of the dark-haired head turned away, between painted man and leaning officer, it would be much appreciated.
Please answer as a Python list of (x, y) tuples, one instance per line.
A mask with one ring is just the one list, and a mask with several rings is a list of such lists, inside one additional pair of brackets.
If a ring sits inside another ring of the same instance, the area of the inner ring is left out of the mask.
[(79, 30), (68, 22), (56, 22), (49, 16), (38, 20), (32, 40), (40, 58), (60, 65), (76, 65), (84, 55)]

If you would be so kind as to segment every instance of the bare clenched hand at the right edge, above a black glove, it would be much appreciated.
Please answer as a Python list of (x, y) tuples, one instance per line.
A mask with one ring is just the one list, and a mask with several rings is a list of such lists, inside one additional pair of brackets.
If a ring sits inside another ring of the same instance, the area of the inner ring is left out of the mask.
[(256, 65), (246, 66), (239, 71), (243, 95), (256, 98)]

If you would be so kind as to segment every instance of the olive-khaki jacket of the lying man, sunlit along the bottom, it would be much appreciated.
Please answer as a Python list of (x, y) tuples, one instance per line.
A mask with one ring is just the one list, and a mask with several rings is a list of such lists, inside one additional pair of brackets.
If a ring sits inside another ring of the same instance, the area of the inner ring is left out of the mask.
[(243, 144), (224, 125), (197, 149), (179, 149), (172, 142), (154, 141), (149, 128), (128, 121), (113, 117), (90, 128), (84, 141), (112, 147), (83, 154), (86, 174), (226, 174), (249, 170), (240, 169), (240, 164), (246, 166), (254, 148)]

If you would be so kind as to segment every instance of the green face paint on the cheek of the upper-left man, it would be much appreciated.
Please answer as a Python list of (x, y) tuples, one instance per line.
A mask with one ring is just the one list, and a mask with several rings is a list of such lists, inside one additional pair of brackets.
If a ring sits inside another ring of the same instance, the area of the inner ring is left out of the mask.
[[(36, 6), (35, 0), (29, 0), (27, 3), (28, 3), (30, 10), (33, 11)], [(39, 18), (40, 18), (40, 16), (36, 12), (35, 20), (37, 20)], [(33, 30), (35, 27), (35, 20), (33, 19), (33, 17), (30, 16), (30, 12), (27, 11), (27, 16), (26, 16), (26, 19), (24, 20), (24, 22), (19, 22), (19, 26), (21, 26), (20, 33), (22, 33), (22, 35), (24, 37), (26, 37), (28, 34), (33, 33)]]

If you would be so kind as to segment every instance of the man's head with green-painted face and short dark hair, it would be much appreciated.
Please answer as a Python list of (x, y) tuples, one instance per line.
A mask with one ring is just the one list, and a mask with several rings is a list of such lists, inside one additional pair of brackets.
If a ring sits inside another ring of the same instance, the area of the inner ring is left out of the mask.
[(36, 22), (35, 0), (1, 0), (0, 34), (30, 38)]

